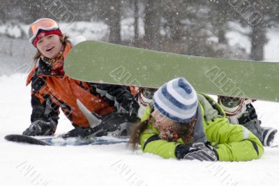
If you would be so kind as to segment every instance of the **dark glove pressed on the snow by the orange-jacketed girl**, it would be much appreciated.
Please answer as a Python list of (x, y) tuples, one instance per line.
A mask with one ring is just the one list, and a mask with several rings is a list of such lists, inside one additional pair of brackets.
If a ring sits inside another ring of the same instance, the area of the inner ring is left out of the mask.
[(52, 135), (55, 133), (57, 123), (50, 119), (50, 121), (37, 120), (24, 130), (22, 135)]

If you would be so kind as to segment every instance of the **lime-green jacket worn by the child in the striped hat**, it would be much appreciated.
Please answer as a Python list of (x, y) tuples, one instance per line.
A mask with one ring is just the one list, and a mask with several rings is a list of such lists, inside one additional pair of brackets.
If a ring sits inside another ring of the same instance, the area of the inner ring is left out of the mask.
[[(197, 94), (197, 96), (202, 117), (200, 123), (203, 130), (199, 128), (201, 132), (198, 132), (199, 137), (196, 139), (194, 137), (194, 142), (204, 141), (204, 139), (199, 140), (199, 138), (202, 139), (202, 133), (205, 133), (205, 140), (211, 142), (220, 161), (247, 161), (262, 157), (264, 147), (255, 135), (244, 126), (229, 124), (223, 108), (210, 96), (205, 94)], [(149, 117), (150, 111), (148, 106), (142, 121)], [(142, 151), (160, 155), (163, 158), (176, 158), (174, 155), (176, 146), (183, 144), (183, 141), (179, 139), (177, 142), (167, 142), (158, 139), (156, 135), (159, 134), (159, 131), (152, 126), (152, 121), (153, 119), (140, 136)]]

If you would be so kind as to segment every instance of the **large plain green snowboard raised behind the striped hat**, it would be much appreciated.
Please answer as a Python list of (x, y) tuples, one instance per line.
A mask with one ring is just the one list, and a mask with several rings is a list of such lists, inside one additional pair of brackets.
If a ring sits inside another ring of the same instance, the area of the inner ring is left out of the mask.
[(197, 92), (279, 101), (279, 63), (227, 60), (86, 41), (68, 53), (66, 74), (80, 81), (158, 88), (185, 77)]

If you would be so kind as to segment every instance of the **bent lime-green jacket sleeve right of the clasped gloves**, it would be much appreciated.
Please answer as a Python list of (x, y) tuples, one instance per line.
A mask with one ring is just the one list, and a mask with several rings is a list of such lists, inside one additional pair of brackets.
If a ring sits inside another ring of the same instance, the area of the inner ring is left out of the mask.
[(225, 117), (216, 117), (206, 126), (206, 137), (212, 142), (220, 161), (248, 161), (262, 157), (264, 147), (250, 130), (229, 124)]

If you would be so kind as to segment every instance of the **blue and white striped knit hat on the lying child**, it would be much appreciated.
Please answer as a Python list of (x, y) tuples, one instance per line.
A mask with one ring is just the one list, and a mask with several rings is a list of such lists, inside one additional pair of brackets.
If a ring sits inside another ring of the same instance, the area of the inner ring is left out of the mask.
[(197, 93), (185, 78), (175, 78), (160, 87), (153, 96), (161, 115), (179, 123), (188, 123), (197, 112)]

